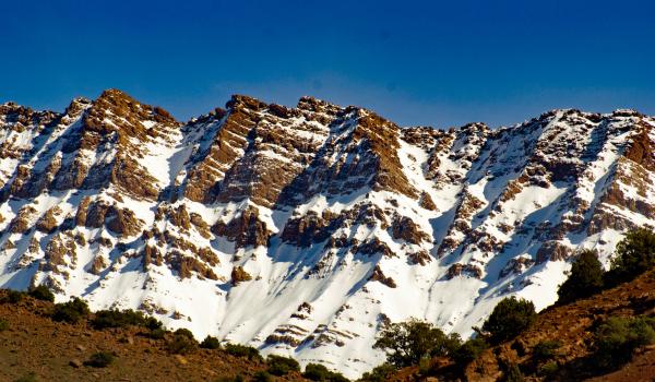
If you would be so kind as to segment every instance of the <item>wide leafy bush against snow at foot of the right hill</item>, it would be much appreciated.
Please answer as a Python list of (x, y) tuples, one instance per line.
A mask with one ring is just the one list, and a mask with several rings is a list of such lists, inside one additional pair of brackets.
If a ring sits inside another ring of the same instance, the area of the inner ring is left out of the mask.
[(386, 361), (404, 368), (424, 358), (449, 356), (461, 345), (457, 334), (445, 335), (431, 323), (412, 319), (388, 325), (378, 336), (374, 348), (386, 351)]

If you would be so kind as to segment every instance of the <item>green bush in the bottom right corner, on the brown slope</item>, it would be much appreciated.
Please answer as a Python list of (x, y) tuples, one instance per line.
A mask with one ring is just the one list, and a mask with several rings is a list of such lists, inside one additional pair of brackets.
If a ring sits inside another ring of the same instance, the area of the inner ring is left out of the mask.
[(603, 368), (628, 362), (634, 350), (655, 343), (655, 319), (612, 317), (594, 332), (595, 359)]

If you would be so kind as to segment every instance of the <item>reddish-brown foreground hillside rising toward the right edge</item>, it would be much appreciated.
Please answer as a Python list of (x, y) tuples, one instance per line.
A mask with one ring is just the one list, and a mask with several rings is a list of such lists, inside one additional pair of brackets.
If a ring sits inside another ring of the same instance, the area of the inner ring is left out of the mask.
[[(522, 370), (526, 381), (652, 381), (655, 345), (639, 348), (624, 365), (602, 368), (594, 359), (593, 333), (609, 318), (655, 317), (655, 271), (570, 305), (541, 311), (534, 324), (516, 338), (485, 350), (463, 373), (446, 359), (434, 359), (430, 377), (418, 367), (403, 369), (391, 381), (503, 381), (507, 366)], [(539, 343), (557, 342), (548, 359), (537, 359)], [(549, 363), (547, 368), (545, 365)], [(546, 372), (546, 371), (547, 372)]]

